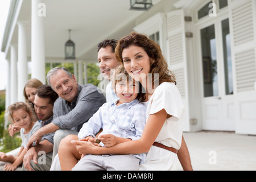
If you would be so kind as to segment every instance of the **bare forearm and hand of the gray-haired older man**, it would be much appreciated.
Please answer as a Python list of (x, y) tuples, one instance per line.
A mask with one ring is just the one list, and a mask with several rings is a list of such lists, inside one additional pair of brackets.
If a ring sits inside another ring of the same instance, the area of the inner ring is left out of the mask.
[(30, 148), (33, 142), (39, 143), (43, 135), (53, 133), (56, 130), (59, 130), (59, 126), (56, 126), (53, 123), (49, 123), (48, 125), (41, 127), (30, 137), (30, 139), (28, 139), (27, 148)]

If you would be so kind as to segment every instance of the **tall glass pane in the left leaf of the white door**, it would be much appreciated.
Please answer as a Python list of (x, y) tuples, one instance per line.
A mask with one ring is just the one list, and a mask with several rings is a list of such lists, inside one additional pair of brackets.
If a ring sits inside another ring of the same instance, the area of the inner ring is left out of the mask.
[(218, 96), (218, 72), (214, 24), (201, 29), (204, 97)]

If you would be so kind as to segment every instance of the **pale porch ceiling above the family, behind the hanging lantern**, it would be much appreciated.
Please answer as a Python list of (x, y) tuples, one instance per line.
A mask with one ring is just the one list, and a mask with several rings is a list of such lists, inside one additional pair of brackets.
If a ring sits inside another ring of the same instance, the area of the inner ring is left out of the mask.
[[(156, 5), (162, 0), (153, 0)], [(130, 9), (130, 0), (45, 0), (44, 36), (46, 58), (64, 59), (64, 44), (71, 39), (76, 44), (76, 57), (97, 60), (97, 43), (105, 38), (125, 36), (144, 11)], [(31, 50), (31, 0), (23, 0), (19, 20), (28, 21), (28, 50)], [(18, 27), (12, 42), (18, 41)], [(28, 51), (28, 56), (31, 53)]]

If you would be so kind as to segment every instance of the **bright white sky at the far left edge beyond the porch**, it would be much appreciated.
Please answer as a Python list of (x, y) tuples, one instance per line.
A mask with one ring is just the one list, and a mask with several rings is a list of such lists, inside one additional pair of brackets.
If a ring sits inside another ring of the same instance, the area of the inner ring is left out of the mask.
[[(0, 0), (0, 47), (2, 46), (3, 33), (5, 31), (5, 23), (9, 11), (10, 0)], [(5, 53), (0, 48), (0, 90), (4, 90), (7, 84), (7, 61)]]

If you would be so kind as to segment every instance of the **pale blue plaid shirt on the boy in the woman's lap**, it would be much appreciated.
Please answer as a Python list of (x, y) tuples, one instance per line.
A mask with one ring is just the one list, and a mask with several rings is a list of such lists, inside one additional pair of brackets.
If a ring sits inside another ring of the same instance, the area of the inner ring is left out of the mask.
[[(100, 109), (84, 123), (79, 131), (79, 139), (95, 135), (102, 129), (101, 134), (113, 134), (116, 137), (137, 140), (141, 138), (146, 124), (146, 106), (139, 103), (137, 99), (116, 105), (117, 101), (103, 104)], [(104, 144), (101, 145), (104, 146)], [(146, 154), (134, 155), (144, 162)]]

